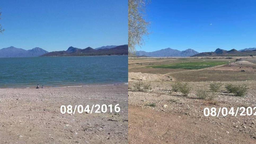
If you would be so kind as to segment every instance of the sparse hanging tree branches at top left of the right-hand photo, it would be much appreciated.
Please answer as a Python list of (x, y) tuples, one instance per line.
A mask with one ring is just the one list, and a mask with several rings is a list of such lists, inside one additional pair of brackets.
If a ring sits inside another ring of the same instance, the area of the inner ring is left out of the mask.
[(144, 35), (148, 35), (149, 21), (145, 19), (147, 0), (128, 0), (128, 49), (135, 56), (136, 47), (144, 44)]

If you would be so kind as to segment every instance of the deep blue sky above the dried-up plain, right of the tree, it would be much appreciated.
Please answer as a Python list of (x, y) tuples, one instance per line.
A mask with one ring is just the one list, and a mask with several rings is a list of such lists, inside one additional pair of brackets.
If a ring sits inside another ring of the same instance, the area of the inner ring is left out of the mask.
[(256, 47), (256, 1), (151, 0), (147, 15), (152, 34), (137, 50)]

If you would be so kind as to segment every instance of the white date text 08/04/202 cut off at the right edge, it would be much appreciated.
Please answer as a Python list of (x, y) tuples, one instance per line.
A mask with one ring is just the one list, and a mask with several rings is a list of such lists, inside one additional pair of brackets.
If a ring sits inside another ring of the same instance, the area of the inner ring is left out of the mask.
[(234, 107), (227, 108), (227, 107), (219, 107), (219, 108), (204, 108), (204, 116), (256, 116), (256, 107)]

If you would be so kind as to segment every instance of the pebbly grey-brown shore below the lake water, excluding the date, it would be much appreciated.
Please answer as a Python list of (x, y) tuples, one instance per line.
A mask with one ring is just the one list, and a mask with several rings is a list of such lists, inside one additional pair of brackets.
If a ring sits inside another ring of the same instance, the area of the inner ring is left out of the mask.
[[(1, 143), (128, 143), (127, 85), (0, 89)], [(119, 113), (61, 114), (61, 105), (119, 104)]]

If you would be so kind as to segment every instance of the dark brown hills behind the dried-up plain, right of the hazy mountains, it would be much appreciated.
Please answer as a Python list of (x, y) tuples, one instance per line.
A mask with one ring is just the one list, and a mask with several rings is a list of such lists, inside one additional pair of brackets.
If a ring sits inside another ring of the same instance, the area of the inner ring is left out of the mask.
[(256, 48), (246, 48), (243, 50), (237, 51), (236, 49), (232, 50), (222, 50), (217, 48), (214, 52), (201, 52), (194, 56), (255, 56), (256, 55)]

